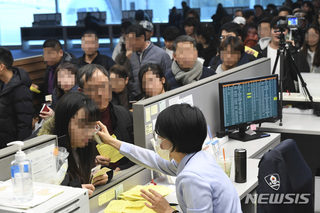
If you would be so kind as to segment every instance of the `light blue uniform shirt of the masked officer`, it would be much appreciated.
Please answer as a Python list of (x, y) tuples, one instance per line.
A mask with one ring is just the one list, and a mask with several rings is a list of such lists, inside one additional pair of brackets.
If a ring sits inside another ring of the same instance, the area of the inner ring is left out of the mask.
[(186, 154), (178, 164), (126, 142), (122, 142), (119, 151), (139, 165), (176, 176), (176, 197), (183, 212), (241, 212), (240, 199), (230, 178), (210, 154)]

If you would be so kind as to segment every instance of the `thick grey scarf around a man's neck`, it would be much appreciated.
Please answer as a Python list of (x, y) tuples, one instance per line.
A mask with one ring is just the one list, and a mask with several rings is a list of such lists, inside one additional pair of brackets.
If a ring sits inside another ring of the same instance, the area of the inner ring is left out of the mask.
[(181, 82), (183, 85), (186, 85), (200, 79), (202, 74), (202, 67), (202, 64), (199, 61), (196, 61), (195, 66), (191, 70), (184, 71), (181, 69), (178, 63), (174, 61), (172, 63), (171, 69), (172, 73), (174, 74), (174, 79), (178, 82)]

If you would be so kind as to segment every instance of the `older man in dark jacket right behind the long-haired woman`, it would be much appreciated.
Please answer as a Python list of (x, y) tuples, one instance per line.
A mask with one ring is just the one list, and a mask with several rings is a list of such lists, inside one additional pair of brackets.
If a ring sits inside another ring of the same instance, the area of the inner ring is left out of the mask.
[[(132, 112), (123, 106), (113, 105), (110, 101), (111, 84), (109, 74), (105, 68), (98, 64), (82, 66), (77, 75), (78, 91), (83, 92), (99, 107), (100, 121), (107, 127), (110, 135), (122, 141), (133, 143), (133, 117)], [(97, 155), (96, 160), (101, 165), (109, 165), (114, 171), (123, 170), (134, 165), (126, 157), (116, 162), (110, 162), (110, 158)]]

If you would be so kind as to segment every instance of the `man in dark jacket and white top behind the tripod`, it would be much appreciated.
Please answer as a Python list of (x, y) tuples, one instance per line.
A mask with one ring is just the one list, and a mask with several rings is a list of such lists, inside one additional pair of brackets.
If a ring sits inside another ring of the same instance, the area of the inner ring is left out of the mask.
[[(252, 48), (257, 50), (262, 57), (269, 57), (271, 62), (271, 70), (270, 73), (273, 70), (277, 49), (280, 46), (280, 40), (278, 38), (278, 35), (280, 32), (274, 32), (274, 30), (277, 30), (277, 22), (279, 20), (285, 20), (284, 16), (275, 16), (270, 22), (270, 35), (271, 37), (269, 39), (263, 39), (263, 42), (259, 42), (258, 45), (253, 46)], [(287, 33), (287, 29), (283, 32), (285, 35)], [(290, 48), (291, 49), (291, 48)], [(309, 72), (309, 65), (306, 61), (305, 56), (301, 51), (294, 50), (292, 48), (291, 54), (295, 60), (295, 63), (298, 65), (300, 72)], [(259, 56), (258, 56), (259, 57)], [(285, 52), (285, 58), (284, 58), (284, 80), (282, 82), (282, 87), (284, 91), (289, 92), (297, 92), (298, 86), (297, 86), (297, 74), (294, 65), (291, 63), (289, 59), (289, 55)], [(277, 66), (275, 68), (275, 74), (279, 74), (280, 72), (280, 60), (277, 62)]]

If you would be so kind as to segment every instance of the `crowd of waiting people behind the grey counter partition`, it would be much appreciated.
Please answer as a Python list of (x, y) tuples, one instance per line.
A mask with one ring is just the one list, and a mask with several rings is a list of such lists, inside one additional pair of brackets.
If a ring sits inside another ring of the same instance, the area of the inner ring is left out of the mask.
[[(163, 47), (150, 41), (153, 25), (148, 20), (121, 23), (122, 35), (112, 57), (98, 51), (95, 31), (83, 33), (83, 55), (78, 58), (64, 51), (57, 39), (45, 40), (42, 48), (47, 66), (42, 83), (31, 83), (25, 70), (12, 67), (10, 50), (0, 47), (0, 148), (10, 141), (41, 134), (66, 135), (66, 140), (59, 145), (70, 153), (69, 185), (88, 188), (91, 194), (94, 185), (105, 184), (112, 178), (112, 173), (106, 173), (98, 176), (93, 185), (88, 184), (90, 169), (96, 164), (119, 171), (136, 161), (123, 157), (110, 162), (109, 158), (99, 155), (91, 142), (96, 121), (107, 129), (104, 131), (107, 136), (103, 135), (107, 141), (111, 141), (109, 135), (113, 135), (118, 141), (134, 144), (132, 103), (256, 58), (269, 57), (271, 73), (280, 45), (277, 22), (285, 20), (287, 15), (298, 13), (304, 18), (302, 28), (293, 33), (289, 33), (289, 29), (283, 32), (299, 71), (320, 72), (318, 0), (294, 3), (285, 0), (279, 9), (273, 4), (265, 9), (254, 5), (254, 11), (236, 10), (234, 14), (228, 14), (219, 4), (212, 23), (200, 22), (197, 11), (185, 2), (182, 7), (182, 18), (178, 18), (176, 8), (172, 8), (168, 27), (161, 32)], [(301, 41), (296, 43), (294, 37), (298, 36)], [(297, 92), (297, 74), (289, 55), (285, 55), (284, 63), (283, 89)], [(278, 62), (277, 74), (279, 67)], [(40, 90), (40, 94), (31, 92), (30, 86)], [(41, 106), (33, 106), (35, 95), (41, 98), (51, 95), (48, 111), (40, 113)]]

